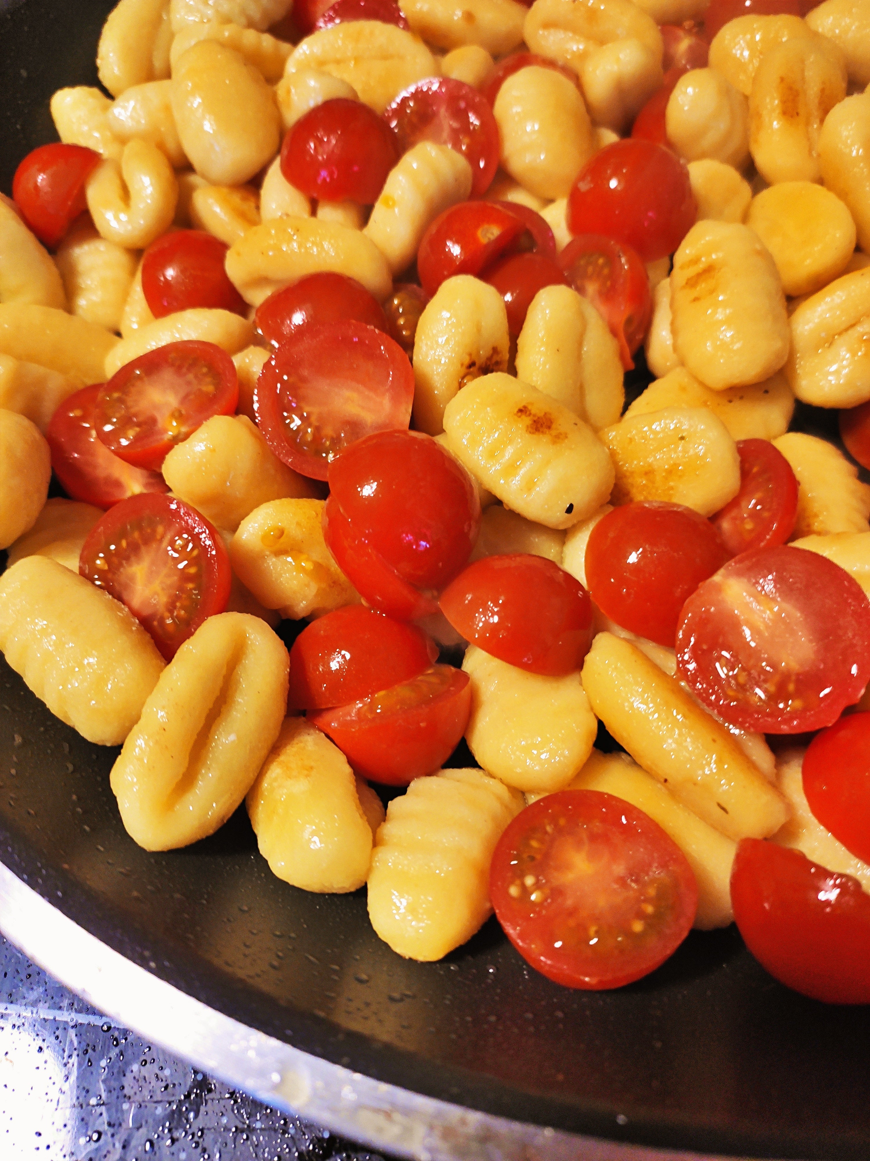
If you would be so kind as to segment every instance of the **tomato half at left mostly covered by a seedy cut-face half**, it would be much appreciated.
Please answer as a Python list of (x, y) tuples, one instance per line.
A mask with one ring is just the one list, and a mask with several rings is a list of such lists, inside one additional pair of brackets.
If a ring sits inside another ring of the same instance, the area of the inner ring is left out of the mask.
[(139, 492), (168, 492), (158, 471), (133, 468), (96, 438), (100, 388), (100, 383), (94, 383), (66, 398), (45, 430), (51, 467), (60, 486), (74, 500), (97, 507), (111, 507)]

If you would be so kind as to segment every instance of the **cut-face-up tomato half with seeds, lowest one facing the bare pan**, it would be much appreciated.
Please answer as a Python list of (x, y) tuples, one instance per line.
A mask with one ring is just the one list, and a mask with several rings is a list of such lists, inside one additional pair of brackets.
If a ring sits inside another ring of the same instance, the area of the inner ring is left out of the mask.
[(698, 889), (683, 852), (643, 810), (602, 791), (560, 791), (508, 824), (490, 895), (532, 967), (599, 990), (639, 980), (676, 951)]

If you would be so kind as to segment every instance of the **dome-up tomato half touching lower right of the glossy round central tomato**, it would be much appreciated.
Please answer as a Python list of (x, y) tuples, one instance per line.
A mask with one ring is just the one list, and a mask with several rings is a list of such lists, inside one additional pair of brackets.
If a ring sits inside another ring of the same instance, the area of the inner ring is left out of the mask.
[(558, 564), (529, 553), (474, 561), (450, 582), (440, 604), (457, 633), (530, 673), (571, 673), (592, 641), (586, 589)]

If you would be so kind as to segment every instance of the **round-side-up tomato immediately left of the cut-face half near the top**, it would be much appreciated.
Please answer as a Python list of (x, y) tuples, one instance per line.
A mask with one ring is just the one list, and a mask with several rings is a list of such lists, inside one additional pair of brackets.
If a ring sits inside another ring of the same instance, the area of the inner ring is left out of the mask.
[(281, 172), (309, 197), (371, 205), (399, 159), (396, 136), (362, 101), (336, 96), (299, 117), (281, 146)]

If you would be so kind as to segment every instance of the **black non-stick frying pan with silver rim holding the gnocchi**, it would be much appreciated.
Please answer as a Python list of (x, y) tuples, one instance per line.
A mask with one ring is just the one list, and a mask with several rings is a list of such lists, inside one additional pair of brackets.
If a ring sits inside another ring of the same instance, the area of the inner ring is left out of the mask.
[[(110, 6), (0, 0), (5, 192), (55, 136), (53, 89), (96, 84)], [(274, 878), (244, 810), (187, 850), (140, 850), (109, 788), (116, 752), (0, 663), (0, 928), (197, 1063), (420, 1158), (870, 1158), (870, 1008), (781, 987), (733, 928), (612, 993), (550, 983), (494, 921), (442, 962), (406, 961), (364, 892)]]

